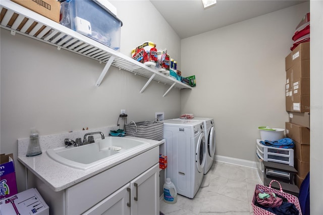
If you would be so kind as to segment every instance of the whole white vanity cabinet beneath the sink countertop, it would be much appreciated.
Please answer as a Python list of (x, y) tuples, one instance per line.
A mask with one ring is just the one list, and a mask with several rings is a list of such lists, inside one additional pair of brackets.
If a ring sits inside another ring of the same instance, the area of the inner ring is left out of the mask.
[(50, 214), (159, 214), (159, 147), (59, 192), (35, 181)]

